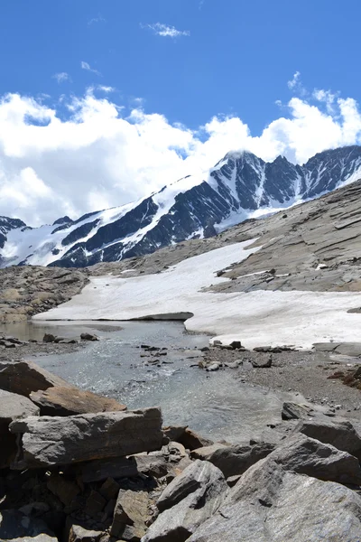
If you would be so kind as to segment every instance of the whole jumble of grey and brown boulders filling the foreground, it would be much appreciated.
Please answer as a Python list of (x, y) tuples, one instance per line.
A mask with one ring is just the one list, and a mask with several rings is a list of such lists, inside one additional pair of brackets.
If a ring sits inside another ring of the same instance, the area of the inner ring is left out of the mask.
[(1, 360), (0, 439), (1, 540), (361, 539), (361, 424), (310, 406), (284, 404), (248, 445), (213, 443)]

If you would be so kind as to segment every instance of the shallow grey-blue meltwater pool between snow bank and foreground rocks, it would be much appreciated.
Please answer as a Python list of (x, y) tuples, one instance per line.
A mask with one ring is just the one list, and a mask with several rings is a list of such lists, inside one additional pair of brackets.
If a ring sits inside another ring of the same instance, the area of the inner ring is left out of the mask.
[[(232, 369), (199, 369), (201, 352), (196, 349), (208, 345), (208, 337), (184, 332), (180, 322), (22, 322), (6, 330), (23, 339), (41, 339), (44, 332), (79, 337), (83, 331), (97, 332), (101, 341), (32, 360), (79, 388), (116, 397), (129, 408), (162, 406), (165, 425), (190, 425), (213, 439), (245, 443), (265, 425), (279, 422), (282, 402), (294, 399), (242, 384)], [(159, 356), (160, 367), (147, 364), (153, 357), (141, 357), (142, 343), (168, 349), (163, 350), (166, 356)]]

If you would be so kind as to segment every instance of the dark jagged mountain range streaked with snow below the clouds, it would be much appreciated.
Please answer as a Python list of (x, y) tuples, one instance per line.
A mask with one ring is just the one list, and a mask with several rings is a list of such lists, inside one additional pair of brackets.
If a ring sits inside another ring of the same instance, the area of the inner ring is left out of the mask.
[(303, 165), (229, 153), (208, 177), (185, 177), (122, 207), (63, 217), (32, 229), (0, 217), (0, 267), (91, 266), (142, 256), (242, 220), (317, 198), (361, 177), (361, 146), (316, 154)]

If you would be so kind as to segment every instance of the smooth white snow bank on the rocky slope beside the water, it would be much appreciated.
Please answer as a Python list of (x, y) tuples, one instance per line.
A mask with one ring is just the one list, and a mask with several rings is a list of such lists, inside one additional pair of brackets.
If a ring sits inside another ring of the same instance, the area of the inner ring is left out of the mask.
[(209, 332), (224, 343), (240, 340), (247, 348), (317, 341), (359, 341), (361, 294), (271, 292), (215, 294), (204, 291), (227, 281), (220, 269), (244, 260), (254, 240), (191, 257), (161, 274), (91, 279), (68, 303), (38, 314), (35, 320), (130, 320), (155, 314), (194, 314), (186, 328)]

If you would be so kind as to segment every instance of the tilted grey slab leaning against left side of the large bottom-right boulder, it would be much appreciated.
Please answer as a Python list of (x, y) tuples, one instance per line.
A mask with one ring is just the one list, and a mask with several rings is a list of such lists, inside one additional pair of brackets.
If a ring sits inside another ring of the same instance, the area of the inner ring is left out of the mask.
[(216, 514), (227, 490), (227, 481), (212, 463), (197, 460), (190, 464), (162, 492), (157, 502), (162, 513), (142, 542), (188, 540), (199, 525)]

